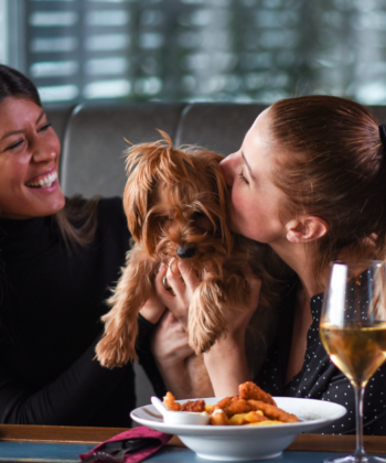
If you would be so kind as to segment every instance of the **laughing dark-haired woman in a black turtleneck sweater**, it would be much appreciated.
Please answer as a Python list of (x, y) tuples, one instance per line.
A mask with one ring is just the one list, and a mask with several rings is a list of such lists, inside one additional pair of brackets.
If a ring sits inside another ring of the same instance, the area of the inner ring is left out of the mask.
[[(0, 422), (129, 427), (131, 364), (94, 360), (104, 301), (129, 247), (120, 198), (66, 200), (60, 141), (34, 85), (0, 65)], [(153, 316), (138, 355), (159, 395)]]

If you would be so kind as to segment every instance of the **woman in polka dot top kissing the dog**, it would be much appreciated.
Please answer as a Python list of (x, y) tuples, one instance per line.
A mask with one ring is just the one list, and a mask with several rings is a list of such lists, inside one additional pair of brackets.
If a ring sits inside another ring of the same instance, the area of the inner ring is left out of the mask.
[[(233, 229), (267, 244), (292, 273), (276, 341), (253, 379), (275, 396), (344, 405), (347, 414), (320, 432), (355, 433), (354, 391), (320, 342), (319, 320), (331, 260), (386, 258), (384, 129), (354, 101), (290, 98), (265, 110), (242, 148), (222, 161)], [(180, 270), (184, 284), (167, 273), (175, 293), (168, 308), (184, 324), (197, 279), (186, 266)], [(228, 313), (226, 337), (204, 354), (216, 396), (237, 394), (251, 379), (245, 331), (257, 303), (243, 317)], [(366, 434), (386, 434), (385, 378), (384, 364), (366, 388)]]

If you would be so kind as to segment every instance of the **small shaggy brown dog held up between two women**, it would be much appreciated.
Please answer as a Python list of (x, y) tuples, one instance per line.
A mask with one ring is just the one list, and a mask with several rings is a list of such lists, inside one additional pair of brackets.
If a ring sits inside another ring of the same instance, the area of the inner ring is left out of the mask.
[[(107, 301), (111, 310), (101, 319), (105, 333), (96, 354), (109, 368), (137, 358), (138, 313), (161, 262), (173, 266), (183, 259), (201, 280), (187, 324), (189, 343), (200, 354), (225, 333), (224, 311), (244, 310), (253, 284), (248, 262), (254, 260), (256, 272), (256, 263), (262, 261), (262, 246), (229, 230), (223, 158), (196, 147), (174, 149), (169, 136), (160, 133), (162, 140), (127, 151), (124, 207), (136, 244)], [(204, 279), (205, 268), (211, 276)], [(270, 280), (262, 268), (257, 273)], [(268, 300), (268, 284), (262, 284), (259, 308), (267, 308)]]

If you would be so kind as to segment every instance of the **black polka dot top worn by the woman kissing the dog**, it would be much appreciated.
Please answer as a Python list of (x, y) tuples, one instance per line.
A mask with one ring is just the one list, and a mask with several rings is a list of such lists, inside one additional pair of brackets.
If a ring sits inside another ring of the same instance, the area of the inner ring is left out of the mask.
[[(355, 433), (355, 397), (349, 379), (330, 360), (319, 337), (323, 294), (311, 298), (313, 322), (308, 332), (307, 349), (300, 373), (286, 383), (291, 351), (297, 286), (289, 288), (279, 309), (276, 341), (255, 381), (274, 396), (307, 397), (329, 400), (346, 407), (347, 413), (334, 423), (313, 432), (329, 434)], [(364, 398), (364, 434), (386, 435), (386, 363), (368, 381)]]

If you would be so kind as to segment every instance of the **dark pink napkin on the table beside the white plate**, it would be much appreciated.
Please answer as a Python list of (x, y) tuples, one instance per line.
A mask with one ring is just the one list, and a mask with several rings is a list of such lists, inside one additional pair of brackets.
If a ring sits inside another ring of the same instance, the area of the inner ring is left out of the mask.
[(143, 438), (156, 439), (157, 441), (153, 445), (146, 446), (143, 449), (127, 453), (125, 455), (125, 463), (138, 463), (147, 459), (148, 456), (152, 455), (153, 453), (156, 453), (159, 449), (161, 449), (161, 446), (168, 443), (172, 437), (173, 437), (172, 434), (165, 434), (164, 432), (156, 431), (146, 426), (141, 426), (141, 427), (132, 428), (128, 431), (121, 432), (120, 434), (117, 434), (108, 439), (107, 441), (95, 446), (90, 452), (82, 453), (79, 457), (82, 461), (88, 459), (89, 456), (93, 455), (95, 451), (98, 451), (99, 449), (103, 450), (105, 444), (108, 442), (125, 441), (127, 439), (143, 439)]

